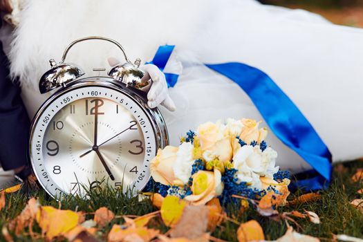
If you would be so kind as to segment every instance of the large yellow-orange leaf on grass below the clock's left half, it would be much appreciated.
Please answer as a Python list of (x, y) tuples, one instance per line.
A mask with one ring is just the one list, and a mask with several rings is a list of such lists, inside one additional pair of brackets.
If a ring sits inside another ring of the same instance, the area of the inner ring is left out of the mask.
[(57, 210), (54, 207), (44, 206), (38, 210), (36, 220), (42, 234), (51, 240), (73, 229), (78, 223), (78, 214), (71, 210)]

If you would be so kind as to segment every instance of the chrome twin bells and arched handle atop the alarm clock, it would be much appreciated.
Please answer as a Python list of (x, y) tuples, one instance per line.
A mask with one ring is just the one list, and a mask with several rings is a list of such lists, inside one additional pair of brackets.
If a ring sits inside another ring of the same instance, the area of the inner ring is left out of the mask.
[(52, 68), (44, 73), (44, 75), (39, 80), (40, 93), (47, 93), (48, 91), (51, 91), (60, 86), (65, 87), (68, 83), (73, 82), (74, 80), (77, 80), (79, 77), (84, 75), (84, 71), (82, 71), (79, 66), (77, 66), (76, 64), (66, 63), (65, 60), (66, 55), (72, 46), (74, 46), (78, 42), (86, 41), (89, 39), (100, 39), (104, 41), (109, 41), (118, 46), (120, 50), (122, 50), (126, 62), (124, 64), (118, 64), (116, 66), (113, 66), (109, 73), (107, 73), (110, 77), (118, 82), (122, 82), (127, 86), (132, 86), (136, 89), (143, 89), (146, 86), (149, 86), (150, 80), (142, 78), (144, 77), (145, 73), (139, 68), (141, 60), (136, 59), (134, 64), (131, 63), (130, 60), (127, 58), (124, 48), (117, 41), (105, 37), (84, 37), (82, 39), (77, 39), (73, 41), (67, 46), (66, 50), (64, 50), (62, 61), (59, 62), (59, 64), (57, 64), (54, 59), (50, 59), (49, 62)]

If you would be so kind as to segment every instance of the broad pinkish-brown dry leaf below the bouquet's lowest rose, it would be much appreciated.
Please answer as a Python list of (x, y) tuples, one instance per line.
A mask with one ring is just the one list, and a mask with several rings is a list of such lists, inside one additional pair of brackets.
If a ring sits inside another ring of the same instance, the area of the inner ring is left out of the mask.
[(185, 207), (180, 220), (170, 231), (171, 238), (200, 238), (207, 232), (209, 214), (210, 210), (205, 205)]

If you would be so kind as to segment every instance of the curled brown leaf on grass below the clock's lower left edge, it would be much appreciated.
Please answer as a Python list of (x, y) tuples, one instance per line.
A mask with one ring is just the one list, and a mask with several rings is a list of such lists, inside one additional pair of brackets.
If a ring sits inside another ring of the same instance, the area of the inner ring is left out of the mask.
[(31, 227), (37, 212), (39, 211), (37, 199), (30, 198), (24, 210), (9, 224), (10, 230), (15, 230), (16, 235), (23, 234), (26, 227)]

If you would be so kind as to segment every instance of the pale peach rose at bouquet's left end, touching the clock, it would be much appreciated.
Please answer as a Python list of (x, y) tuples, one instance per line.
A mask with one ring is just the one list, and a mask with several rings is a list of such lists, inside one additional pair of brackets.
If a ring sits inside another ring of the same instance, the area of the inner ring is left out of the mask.
[(150, 171), (153, 180), (164, 185), (173, 185), (175, 182), (174, 162), (178, 147), (167, 146), (159, 149), (157, 155), (151, 160)]

